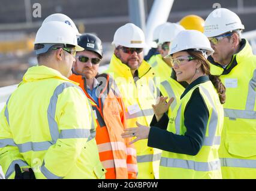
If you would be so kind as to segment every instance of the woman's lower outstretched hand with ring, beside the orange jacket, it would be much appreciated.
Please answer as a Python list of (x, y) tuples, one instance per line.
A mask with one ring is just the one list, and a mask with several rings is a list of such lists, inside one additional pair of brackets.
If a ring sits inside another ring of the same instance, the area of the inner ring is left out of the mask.
[(127, 129), (124, 130), (125, 133), (121, 134), (122, 138), (136, 137), (129, 144), (135, 143), (138, 140), (146, 139), (147, 137), (149, 137), (150, 127), (146, 127), (144, 125), (141, 125), (138, 122), (136, 122), (136, 125), (138, 127), (127, 128)]

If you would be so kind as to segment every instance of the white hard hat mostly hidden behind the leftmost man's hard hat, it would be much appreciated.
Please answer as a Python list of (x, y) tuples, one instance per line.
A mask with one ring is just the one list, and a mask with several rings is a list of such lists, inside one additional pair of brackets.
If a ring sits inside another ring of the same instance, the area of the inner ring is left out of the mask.
[(43, 24), (47, 23), (49, 21), (64, 22), (64, 23), (70, 25), (75, 30), (77, 36), (81, 36), (81, 34), (79, 33), (79, 31), (76, 27), (76, 24), (73, 22), (72, 19), (70, 19), (70, 17), (66, 16), (65, 14), (62, 14), (62, 13), (51, 14), (50, 16), (46, 17), (46, 19), (44, 19)]

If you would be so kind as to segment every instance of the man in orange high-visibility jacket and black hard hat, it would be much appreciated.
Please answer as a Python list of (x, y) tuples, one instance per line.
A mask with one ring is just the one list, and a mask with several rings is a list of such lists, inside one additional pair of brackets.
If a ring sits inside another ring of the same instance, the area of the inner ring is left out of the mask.
[(78, 44), (85, 50), (77, 53), (70, 79), (79, 82), (94, 110), (96, 141), (106, 178), (137, 178), (136, 150), (128, 144), (131, 140), (121, 137), (127, 128), (124, 102), (113, 79), (106, 73), (98, 74), (103, 57), (101, 40), (87, 33), (80, 36)]

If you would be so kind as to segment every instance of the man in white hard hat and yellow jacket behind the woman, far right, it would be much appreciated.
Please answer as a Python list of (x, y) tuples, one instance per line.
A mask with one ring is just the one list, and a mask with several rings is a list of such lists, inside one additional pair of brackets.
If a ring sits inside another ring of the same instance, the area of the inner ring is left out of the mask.
[(256, 57), (239, 17), (226, 8), (209, 14), (204, 34), (215, 51), (208, 57), (211, 73), (226, 87), (224, 128), (219, 157), (223, 178), (255, 178)]

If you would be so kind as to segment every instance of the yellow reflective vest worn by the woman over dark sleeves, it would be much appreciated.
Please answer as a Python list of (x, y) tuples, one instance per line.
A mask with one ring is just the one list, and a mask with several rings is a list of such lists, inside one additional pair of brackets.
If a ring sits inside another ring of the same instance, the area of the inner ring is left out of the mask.
[(200, 94), (209, 110), (209, 121), (203, 146), (195, 156), (163, 151), (159, 168), (160, 178), (221, 178), (218, 149), (224, 112), (212, 82), (207, 81), (195, 85), (182, 97), (171, 115), (173, 120), (169, 121), (167, 131), (178, 135), (185, 134), (184, 112), (186, 104), (197, 87), (199, 87)]

